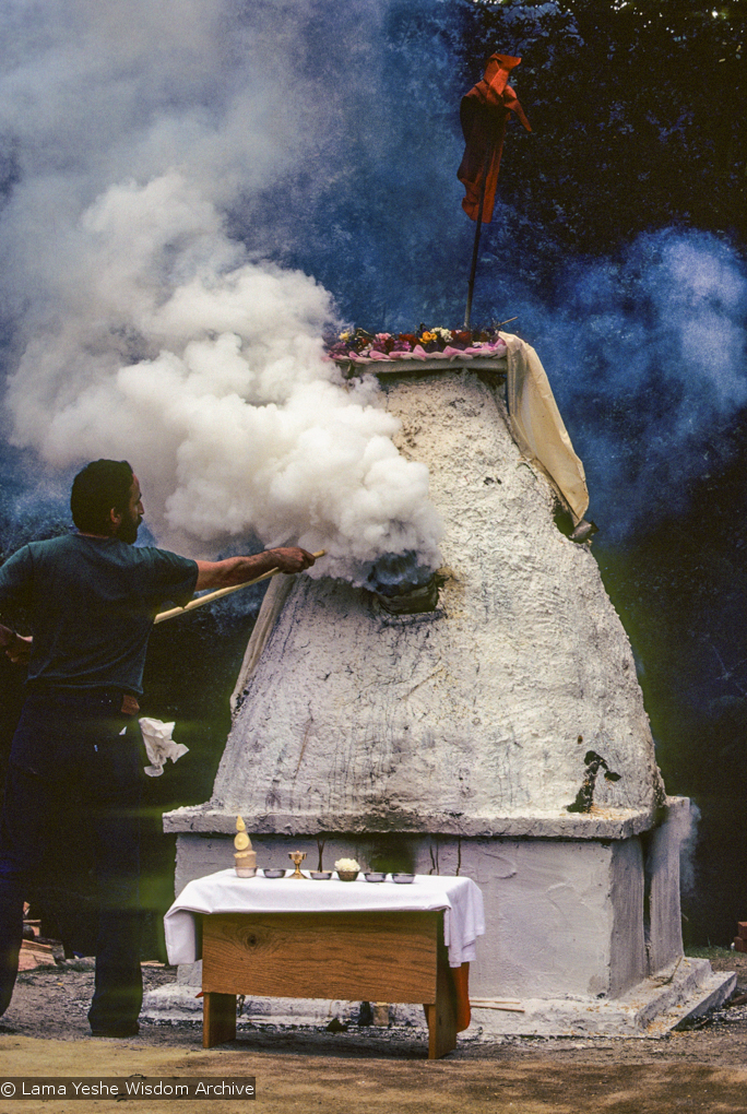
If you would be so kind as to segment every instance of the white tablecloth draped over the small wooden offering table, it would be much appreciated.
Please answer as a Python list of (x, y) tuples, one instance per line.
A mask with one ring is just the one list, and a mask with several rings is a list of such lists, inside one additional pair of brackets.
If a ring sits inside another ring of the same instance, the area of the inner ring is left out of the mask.
[(475, 959), (475, 941), (485, 931), (482, 893), (471, 878), (416, 874), (410, 885), (385, 882), (295, 881), (291, 878), (239, 878), (236, 871), (196, 878), (181, 890), (164, 918), (171, 964), (199, 958), (194, 913), (344, 912), (366, 909), (443, 909), (449, 965)]

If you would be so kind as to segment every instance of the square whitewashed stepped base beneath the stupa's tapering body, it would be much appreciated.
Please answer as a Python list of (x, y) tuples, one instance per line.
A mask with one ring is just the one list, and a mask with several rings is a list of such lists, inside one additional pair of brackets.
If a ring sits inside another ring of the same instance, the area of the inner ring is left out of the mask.
[[(179, 831), (177, 893), (233, 863), (234, 823), (205, 808), (169, 814), (168, 827)], [(736, 976), (715, 975), (706, 960), (682, 955), (679, 854), (689, 801), (670, 799), (656, 818), (609, 809), (533, 817), (531, 831), (518, 817), (486, 825), (502, 834), (327, 834), (323, 849), (327, 869), (355, 858), (364, 868), (460, 873), (480, 886), (486, 931), (470, 971), (471, 1038), (656, 1036), (729, 997)], [(252, 833), (252, 840), (259, 867), (286, 867), (296, 850), (306, 852), (304, 866), (317, 867), (314, 838)], [(194, 1017), (198, 986), (198, 965), (181, 968), (178, 986), (150, 995), (146, 1013), (190, 1007)], [(244, 1007), (246, 1020), (257, 1024), (318, 1026), (332, 1017), (357, 1024), (360, 1015), (360, 1003), (253, 999)], [(390, 1018), (412, 1034), (421, 1015), (420, 1007), (392, 1006)]]

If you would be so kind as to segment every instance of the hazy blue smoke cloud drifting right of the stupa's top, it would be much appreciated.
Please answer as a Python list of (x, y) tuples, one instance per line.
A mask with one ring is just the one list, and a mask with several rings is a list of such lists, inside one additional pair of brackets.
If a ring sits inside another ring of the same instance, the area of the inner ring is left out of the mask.
[(571, 260), (551, 300), (514, 299), (621, 541), (688, 506), (731, 458), (747, 404), (747, 270), (715, 236), (664, 229)]

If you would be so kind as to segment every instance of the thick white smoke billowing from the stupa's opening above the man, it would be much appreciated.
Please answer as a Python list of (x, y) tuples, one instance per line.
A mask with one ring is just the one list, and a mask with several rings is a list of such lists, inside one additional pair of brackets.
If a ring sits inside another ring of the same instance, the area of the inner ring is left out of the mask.
[(324, 126), (288, 71), (304, 7), (6, 9), (6, 403), (12, 443), (53, 466), (130, 460), (166, 544), (202, 556), (253, 532), (361, 580), (386, 553), (438, 564), (427, 470), (394, 448), (376, 384), (323, 359), (326, 291), (227, 231)]

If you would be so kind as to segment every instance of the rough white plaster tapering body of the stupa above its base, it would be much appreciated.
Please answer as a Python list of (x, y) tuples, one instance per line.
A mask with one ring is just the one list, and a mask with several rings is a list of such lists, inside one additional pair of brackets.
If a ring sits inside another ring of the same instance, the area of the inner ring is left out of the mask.
[(298, 577), (210, 811), (242, 812), (257, 832), (582, 827), (566, 807), (594, 750), (620, 774), (600, 771), (596, 804), (648, 827), (661, 785), (628, 638), (588, 547), (553, 524), (502, 401), (474, 372), (385, 388), (445, 522), (440, 606), (395, 617), (347, 584)]

